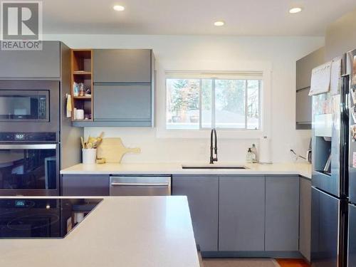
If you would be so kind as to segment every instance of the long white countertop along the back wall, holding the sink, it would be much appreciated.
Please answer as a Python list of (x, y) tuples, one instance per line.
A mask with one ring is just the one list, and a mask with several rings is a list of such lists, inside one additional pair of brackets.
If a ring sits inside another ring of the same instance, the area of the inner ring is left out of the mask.
[[(189, 165), (192, 165), (192, 163)], [(61, 174), (298, 174), (311, 178), (312, 168), (311, 164), (308, 163), (242, 165), (248, 167), (248, 169), (182, 169), (182, 164), (179, 163), (76, 164), (67, 169), (62, 169)]]

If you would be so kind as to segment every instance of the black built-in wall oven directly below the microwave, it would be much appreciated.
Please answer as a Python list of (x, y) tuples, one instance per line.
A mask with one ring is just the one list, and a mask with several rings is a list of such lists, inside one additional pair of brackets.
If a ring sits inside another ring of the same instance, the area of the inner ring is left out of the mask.
[(57, 132), (0, 132), (0, 195), (60, 194)]

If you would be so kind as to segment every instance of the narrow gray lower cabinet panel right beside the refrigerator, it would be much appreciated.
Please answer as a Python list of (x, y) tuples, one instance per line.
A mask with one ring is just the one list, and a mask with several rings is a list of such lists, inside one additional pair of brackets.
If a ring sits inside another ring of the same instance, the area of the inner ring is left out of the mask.
[(310, 261), (311, 181), (300, 177), (299, 251)]

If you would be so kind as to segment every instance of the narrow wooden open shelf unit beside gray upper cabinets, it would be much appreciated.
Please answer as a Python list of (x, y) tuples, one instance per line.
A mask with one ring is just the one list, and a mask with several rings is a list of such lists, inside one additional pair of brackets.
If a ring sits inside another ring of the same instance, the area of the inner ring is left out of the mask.
[[(72, 121), (93, 121), (93, 50), (72, 49), (71, 51), (71, 95), (72, 95)], [(90, 88), (90, 95), (75, 95), (74, 83), (83, 83), (85, 90)], [(74, 108), (84, 110), (87, 120), (75, 120)]]

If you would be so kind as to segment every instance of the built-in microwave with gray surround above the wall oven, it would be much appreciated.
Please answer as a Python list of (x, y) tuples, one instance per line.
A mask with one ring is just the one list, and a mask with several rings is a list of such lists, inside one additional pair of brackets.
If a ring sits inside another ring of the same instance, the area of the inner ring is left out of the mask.
[(1, 80), (1, 132), (59, 131), (58, 81)]

